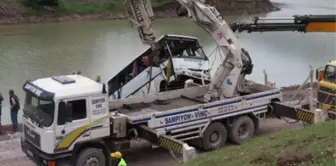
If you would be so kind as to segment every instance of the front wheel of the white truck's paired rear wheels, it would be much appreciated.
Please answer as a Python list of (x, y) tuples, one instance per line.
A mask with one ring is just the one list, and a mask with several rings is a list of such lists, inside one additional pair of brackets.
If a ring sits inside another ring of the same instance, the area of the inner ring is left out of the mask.
[(227, 131), (223, 124), (212, 123), (203, 133), (201, 139), (202, 149), (205, 151), (215, 150), (222, 147), (227, 140)]

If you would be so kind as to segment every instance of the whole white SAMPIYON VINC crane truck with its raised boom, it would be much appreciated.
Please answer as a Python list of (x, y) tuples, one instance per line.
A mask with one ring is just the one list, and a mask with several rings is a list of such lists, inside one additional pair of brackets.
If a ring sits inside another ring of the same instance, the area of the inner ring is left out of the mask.
[[(126, 1), (124, 1), (127, 3)], [(129, 0), (140, 37), (155, 51), (148, 0)], [(252, 62), (218, 11), (200, 0), (178, 0), (216, 41), (223, 63), (209, 84), (109, 101), (105, 84), (82, 75), (27, 81), (21, 148), (38, 165), (111, 164), (110, 152), (130, 148), (135, 138), (195, 157), (195, 147), (214, 150), (228, 139), (251, 139), (266, 118), (314, 121), (314, 113), (282, 102), (282, 92), (246, 80)], [(178, 10), (178, 14), (185, 12)], [(190, 146), (193, 145), (193, 146)]]

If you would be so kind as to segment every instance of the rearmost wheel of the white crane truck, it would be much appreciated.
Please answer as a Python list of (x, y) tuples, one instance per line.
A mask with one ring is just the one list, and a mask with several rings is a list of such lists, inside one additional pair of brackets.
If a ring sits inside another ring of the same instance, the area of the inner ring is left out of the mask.
[(236, 144), (242, 144), (249, 141), (253, 134), (254, 123), (248, 116), (237, 118), (229, 130), (229, 138)]

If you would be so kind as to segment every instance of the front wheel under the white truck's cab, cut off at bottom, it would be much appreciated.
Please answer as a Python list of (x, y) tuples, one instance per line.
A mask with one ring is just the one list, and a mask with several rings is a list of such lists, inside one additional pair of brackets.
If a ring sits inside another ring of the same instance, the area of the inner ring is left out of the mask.
[(77, 157), (76, 166), (105, 166), (105, 155), (101, 149), (84, 149)]

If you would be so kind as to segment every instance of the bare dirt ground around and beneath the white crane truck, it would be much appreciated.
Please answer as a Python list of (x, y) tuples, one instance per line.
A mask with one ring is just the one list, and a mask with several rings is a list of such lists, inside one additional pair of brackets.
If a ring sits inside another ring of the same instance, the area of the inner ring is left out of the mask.
[[(298, 127), (302, 127), (302, 123), (288, 124), (277, 119), (267, 119), (261, 125), (258, 136), (272, 135), (282, 130)], [(0, 142), (1, 166), (35, 166), (21, 151), (19, 136), (20, 134), (16, 134), (9, 140)], [(177, 163), (177, 161), (170, 155), (168, 151), (161, 148), (152, 149), (151, 145), (146, 142), (133, 142), (132, 146), (132, 150), (125, 154), (128, 165), (172, 166)], [(181, 160), (180, 158), (178, 159)]]

